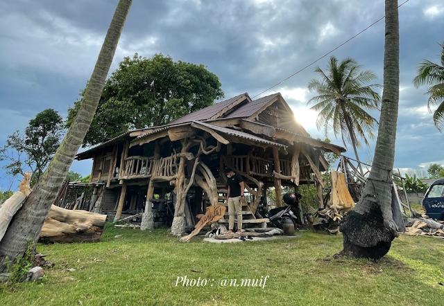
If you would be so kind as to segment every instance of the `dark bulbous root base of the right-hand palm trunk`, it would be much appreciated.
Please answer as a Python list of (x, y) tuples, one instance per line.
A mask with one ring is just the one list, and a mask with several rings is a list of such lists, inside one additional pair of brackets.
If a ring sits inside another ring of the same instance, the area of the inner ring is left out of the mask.
[(336, 257), (368, 258), (378, 260), (390, 250), (391, 242), (398, 233), (384, 225), (379, 207), (361, 215), (350, 211), (340, 225), (343, 234), (343, 250)]

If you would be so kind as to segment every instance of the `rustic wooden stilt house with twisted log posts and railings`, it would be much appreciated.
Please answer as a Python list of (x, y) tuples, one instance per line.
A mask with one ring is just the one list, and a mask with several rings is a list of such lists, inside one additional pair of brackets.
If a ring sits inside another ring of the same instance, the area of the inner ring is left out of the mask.
[[(254, 213), (268, 188), (275, 188), (276, 206), (281, 206), (281, 186), (297, 190), (300, 184), (314, 183), (322, 205), (321, 172), (327, 163), (321, 150), (345, 152), (311, 138), (280, 93), (257, 100), (243, 93), (168, 125), (127, 132), (76, 159), (94, 160), (91, 181), (105, 183), (103, 212), (115, 212), (119, 219), (122, 211), (141, 212), (154, 203), (156, 211), (167, 210), (189, 226), (195, 215), (205, 213), (205, 206), (225, 201), (223, 169), (232, 168), (248, 190), (248, 225), (264, 222)], [(155, 226), (162, 221), (156, 222), (155, 215)]]

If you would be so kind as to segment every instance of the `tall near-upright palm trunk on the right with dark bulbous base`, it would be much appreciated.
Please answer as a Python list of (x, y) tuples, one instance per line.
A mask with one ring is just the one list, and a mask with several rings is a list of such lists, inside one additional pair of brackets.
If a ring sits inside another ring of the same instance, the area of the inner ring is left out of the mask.
[(375, 159), (361, 199), (341, 223), (341, 254), (355, 258), (382, 258), (401, 230), (393, 221), (398, 212), (391, 204), (400, 82), (398, 1), (386, 0), (385, 10), (384, 91)]

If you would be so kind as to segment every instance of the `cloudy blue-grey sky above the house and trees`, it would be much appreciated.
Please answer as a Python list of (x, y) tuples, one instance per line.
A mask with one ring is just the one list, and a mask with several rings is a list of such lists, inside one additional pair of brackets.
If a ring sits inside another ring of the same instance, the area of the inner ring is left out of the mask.
[[(92, 73), (117, 0), (1, 1), (0, 147), (6, 136), (23, 131), (43, 109), (62, 116)], [(404, 1), (400, 1), (402, 3)], [(439, 63), (444, 42), (442, 0), (410, 0), (400, 12), (400, 115), (395, 168), (444, 164), (444, 135), (432, 125), (426, 87), (411, 80), (422, 59)], [(171, 55), (205, 64), (219, 76), (225, 97), (256, 96), (302, 69), (384, 16), (384, 1), (359, 0), (134, 0), (111, 71), (125, 56)], [(352, 57), (373, 70), (382, 84), (384, 20), (341, 46), (332, 55)], [(297, 120), (314, 137), (316, 113), (306, 107), (314, 93), (307, 84), (316, 65), (264, 93), (280, 91)], [(377, 114), (376, 114), (377, 116)], [(333, 143), (340, 139), (330, 136)], [(351, 149), (351, 148), (350, 148)], [(359, 150), (362, 160), (373, 156)], [(346, 153), (354, 157), (351, 152)], [(84, 176), (91, 163), (71, 167)], [(0, 188), (8, 179), (0, 170)]]

